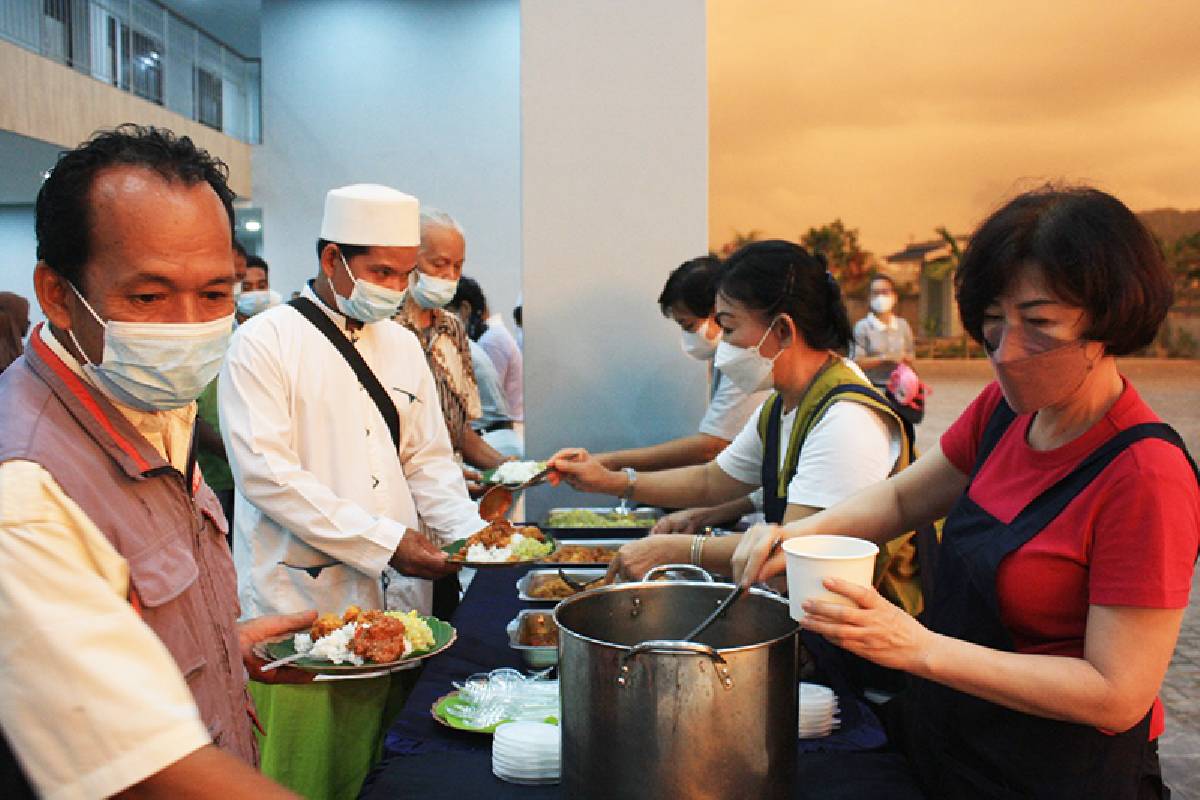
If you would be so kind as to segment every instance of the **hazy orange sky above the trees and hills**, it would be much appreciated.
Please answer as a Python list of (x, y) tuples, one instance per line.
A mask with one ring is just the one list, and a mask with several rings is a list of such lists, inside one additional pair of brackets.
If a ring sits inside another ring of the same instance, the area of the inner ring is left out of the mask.
[(709, 0), (709, 239), (878, 254), (1044, 180), (1200, 207), (1200, 2)]

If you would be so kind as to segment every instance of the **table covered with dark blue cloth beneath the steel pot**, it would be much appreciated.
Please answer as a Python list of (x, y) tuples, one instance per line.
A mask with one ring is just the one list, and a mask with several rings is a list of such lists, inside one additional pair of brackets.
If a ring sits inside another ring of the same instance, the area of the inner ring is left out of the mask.
[[(550, 603), (517, 599), (516, 582), (528, 567), (480, 570), (452, 624), (458, 640), (430, 658), (400, 716), (388, 730), (384, 759), (362, 786), (360, 800), (454, 798), (454, 800), (536, 800), (563, 798), (559, 786), (526, 787), (492, 775), (492, 736), (443, 726), (431, 709), (452, 682), (497, 667), (526, 666), (509, 646), (506, 625), (522, 608), (548, 609)], [(875, 715), (842, 687), (838, 691), (841, 728), (823, 739), (799, 740), (796, 798), (919, 798), (904, 759), (878, 751), (886, 744)], [(832, 771), (830, 771), (832, 770)], [(832, 787), (809, 776), (842, 774)]]

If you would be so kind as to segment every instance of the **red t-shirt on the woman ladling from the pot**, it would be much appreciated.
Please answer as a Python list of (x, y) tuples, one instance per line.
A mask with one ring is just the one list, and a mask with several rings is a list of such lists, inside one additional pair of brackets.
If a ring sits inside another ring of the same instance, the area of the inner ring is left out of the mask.
[[(992, 383), (942, 435), (942, 452), (965, 475), (1002, 398)], [(1032, 414), (1013, 421), (968, 492), (1004, 523), (1117, 432), (1160, 420), (1124, 381), (1112, 408), (1062, 447), (1033, 450), (1027, 441), (1032, 421)], [(1082, 657), (1088, 606), (1186, 608), (1198, 543), (1200, 489), (1190, 464), (1175, 445), (1142, 439), (1001, 561), (1001, 619), (1018, 652)], [(1151, 738), (1162, 732), (1156, 700)]]

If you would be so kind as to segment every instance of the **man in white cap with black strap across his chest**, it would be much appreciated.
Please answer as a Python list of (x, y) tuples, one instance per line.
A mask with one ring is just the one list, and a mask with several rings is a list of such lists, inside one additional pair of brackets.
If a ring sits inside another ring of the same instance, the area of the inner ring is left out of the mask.
[[(329, 192), (316, 279), (233, 337), (220, 401), (247, 613), (427, 614), (431, 579), (455, 572), (438, 543), (485, 527), (425, 354), (390, 319), (419, 243), (415, 198), (377, 185)], [(412, 674), (252, 684), (263, 770), (306, 796), (356, 796)]]

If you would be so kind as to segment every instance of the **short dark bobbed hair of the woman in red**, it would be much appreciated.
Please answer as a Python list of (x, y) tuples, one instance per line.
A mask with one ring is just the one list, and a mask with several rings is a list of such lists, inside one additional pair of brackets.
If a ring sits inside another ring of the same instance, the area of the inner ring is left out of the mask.
[(1121, 200), (1090, 187), (1043, 186), (984, 219), (954, 275), (962, 327), (983, 343), (983, 315), (1019, 269), (1088, 319), (1084, 338), (1127, 355), (1153, 342), (1171, 307), (1171, 276), (1153, 235)]

